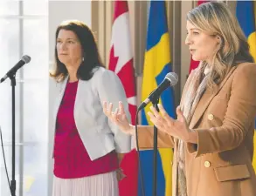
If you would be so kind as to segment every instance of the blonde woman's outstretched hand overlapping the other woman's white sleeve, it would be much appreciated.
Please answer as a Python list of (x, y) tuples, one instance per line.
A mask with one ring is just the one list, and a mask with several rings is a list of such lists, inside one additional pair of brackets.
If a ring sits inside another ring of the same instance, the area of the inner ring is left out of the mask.
[(124, 107), (121, 102), (119, 102), (119, 108), (116, 108), (114, 112), (112, 112), (113, 104), (109, 103), (107, 105), (107, 102), (103, 102), (103, 112), (109, 118), (115, 125), (117, 125), (122, 132), (128, 133), (128, 134), (134, 134), (135, 129), (133, 125), (130, 125), (128, 123), (128, 118), (124, 112)]

